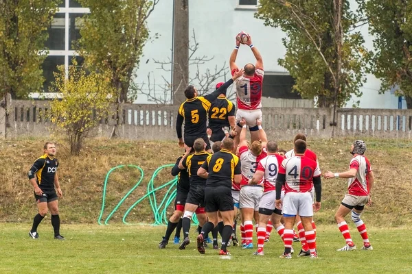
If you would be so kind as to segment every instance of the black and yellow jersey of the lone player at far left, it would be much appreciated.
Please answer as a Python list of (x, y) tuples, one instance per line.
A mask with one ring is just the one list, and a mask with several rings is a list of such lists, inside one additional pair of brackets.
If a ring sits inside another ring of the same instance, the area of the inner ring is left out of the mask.
[(58, 168), (58, 160), (49, 158), (47, 154), (34, 162), (29, 171), (29, 179), (37, 177), (37, 185), (41, 190), (54, 190), (54, 177)]

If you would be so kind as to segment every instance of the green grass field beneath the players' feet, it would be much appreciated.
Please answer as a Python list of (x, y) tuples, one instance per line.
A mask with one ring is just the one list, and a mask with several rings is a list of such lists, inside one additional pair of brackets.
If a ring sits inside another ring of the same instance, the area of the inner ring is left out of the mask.
[[(308, 257), (279, 259), (281, 240), (273, 233), (265, 256), (254, 249), (229, 247), (230, 260), (221, 260), (213, 249), (205, 255), (192, 243), (178, 250), (172, 242), (158, 249), (165, 227), (149, 225), (62, 225), (65, 241), (53, 239), (49, 221), (39, 226), (40, 238), (27, 235), (30, 223), (0, 223), (0, 273), (411, 273), (412, 241), (409, 227), (369, 228), (373, 251), (337, 252), (344, 240), (332, 225), (318, 227), (318, 260)], [(350, 224), (352, 238), (361, 237)], [(295, 251), (300, 243), (293, 244)]]

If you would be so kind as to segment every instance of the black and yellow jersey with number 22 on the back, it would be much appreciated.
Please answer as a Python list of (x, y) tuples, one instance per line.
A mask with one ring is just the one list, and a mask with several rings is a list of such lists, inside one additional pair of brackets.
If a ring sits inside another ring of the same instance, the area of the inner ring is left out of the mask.
[(209, 127), (211, 132), (230, 127), (229, 116), (235, 116), (235, 105), (225, 96), (220, 95), (209, 108)]

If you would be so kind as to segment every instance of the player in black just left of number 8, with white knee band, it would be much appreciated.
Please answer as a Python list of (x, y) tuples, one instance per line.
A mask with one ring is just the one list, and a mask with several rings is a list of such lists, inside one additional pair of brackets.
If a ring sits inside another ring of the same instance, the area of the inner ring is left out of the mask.
[(185, 157), (179, 162), (179, 169), (187, 169), (189, 172), (190, 189), (185, 203), (185, 212), (183, 213), (182, 229), (184, 240), (179, 246), (179, 249), (185, 249), (190, 244), (189, 230), (192, 216), (196, 212), (199, 226), (207, 221), (205, 213), (205, 185), (206, 179), (197, 175), (198, 169), (211, 155), (205, 151), (206, 143), (202, 138), (194, 140), (194, 154), (188, 155), (191, 151), (190, 147), (186, 147)]

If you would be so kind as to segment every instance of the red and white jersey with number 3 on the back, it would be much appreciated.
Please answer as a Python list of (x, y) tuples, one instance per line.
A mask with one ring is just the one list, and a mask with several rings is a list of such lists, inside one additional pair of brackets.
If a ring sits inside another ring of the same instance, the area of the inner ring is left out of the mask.
[(262, 153), (260, 153), (260, 155), (255, 156), (247, 146), (242, 146), (239, 148), (239, 154), (240, 164), (242, 167), (242, 181), (240, 182), (240, 186), (244, 186), (249, 183), (249, 179), (251, 179), (251, 177), (255, 174), (260, 160), (265, 158), (268, 153), (266, 148), (264, 148), (262, 149)]

